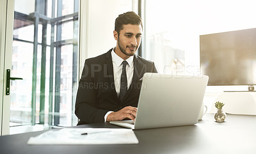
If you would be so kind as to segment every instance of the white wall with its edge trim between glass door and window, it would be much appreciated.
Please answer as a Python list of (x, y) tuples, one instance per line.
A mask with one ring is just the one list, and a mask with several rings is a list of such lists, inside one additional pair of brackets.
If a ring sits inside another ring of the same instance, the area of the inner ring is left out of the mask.
[(81, 0), (79, 76), (84, 60), (115, 47), (115, 19), (127, 11), (138, 10), (138, 0)]

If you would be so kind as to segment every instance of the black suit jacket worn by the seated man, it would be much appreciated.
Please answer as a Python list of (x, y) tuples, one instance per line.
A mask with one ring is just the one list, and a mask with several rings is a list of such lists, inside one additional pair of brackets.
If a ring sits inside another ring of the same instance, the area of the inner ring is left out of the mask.
[(154, 62), (134, 55), (132, 83), (123, 101), (120, 101), (115, 90), (111, 51), (85, 60), (76, 97), (77, 125), (104, 122), (108, 111), (118, 111), (125, 106), (137, 107), (142, 82), (140, 79), (144, 73), (157, 73)]

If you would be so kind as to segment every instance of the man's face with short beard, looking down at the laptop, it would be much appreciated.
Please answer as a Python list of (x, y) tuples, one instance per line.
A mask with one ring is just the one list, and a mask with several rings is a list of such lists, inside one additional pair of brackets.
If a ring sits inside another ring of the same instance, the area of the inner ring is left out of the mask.
[(116, 46), (124, 57), (130, 57), (136, 53), (136, 50), (140, 47), (142, 28), (141, 25), (124, 25), (119, 33), (114, 31), (114, 36), (118, 46)]

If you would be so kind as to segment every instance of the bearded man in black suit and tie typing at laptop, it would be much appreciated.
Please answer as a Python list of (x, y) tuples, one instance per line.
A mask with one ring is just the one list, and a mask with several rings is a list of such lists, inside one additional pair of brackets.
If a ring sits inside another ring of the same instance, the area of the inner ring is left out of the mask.
[(113, 32), (116, 47), (85, 60), (76, 97), (77, 125), (135, 120), (143, 74), (157, 73), (154, 62), (135, 55), (142, 31), (136, 13), (119, 15)]

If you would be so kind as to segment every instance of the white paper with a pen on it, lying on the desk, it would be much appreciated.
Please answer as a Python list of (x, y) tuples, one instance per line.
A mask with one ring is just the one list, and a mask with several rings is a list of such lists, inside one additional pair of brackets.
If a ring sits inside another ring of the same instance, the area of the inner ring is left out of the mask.
[[(87, 135), (81, 135), (87, 133)], [(28, 144), (138, 144), (132, 129), (70, 128), (48, 130), (30, 137)]]

